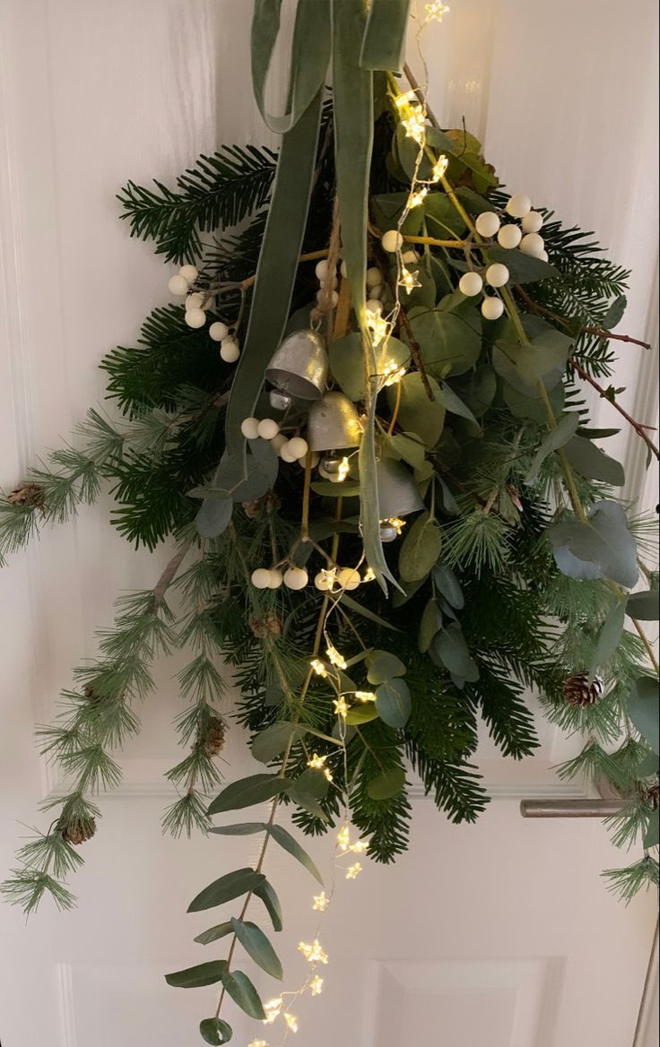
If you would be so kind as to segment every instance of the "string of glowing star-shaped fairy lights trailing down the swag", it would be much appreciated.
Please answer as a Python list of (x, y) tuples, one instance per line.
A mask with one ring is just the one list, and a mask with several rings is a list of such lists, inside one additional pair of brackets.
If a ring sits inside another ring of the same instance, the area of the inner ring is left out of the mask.
[[(415, 5), (413, 17), (416, 18), (418, 24), (416, 42), (420, 57), (422, 57), (424, 71), (426, 70), (426, 66), (423, 62), (423, 55), (421, 55), (421, 34), (430, 22), (441, 22), (448, 10), (449, 8), (438, 0), (438, 2), (424, 4), (424, 15), (420, 17), (417, 12), (417, 5)], [(413, 177), (411, 179), (408, 200), (399, 217), (397, 227), (395, 230), (391, 230), (390, 233), (386, 233), (383, 237), (383, 247), (386, 250), (390, 250), (396, 254), (397, 271), (394, 306), (386, 316), (383, 316), (378, 310), (367, 310), (366, 319), (368, 329), (372, 336), (374, 359), (379, 357), (383, 361), (381, 367), (379, 367), (378, 375), (372, 376), (377, 382), (374, 395), (377, 395), (386, 386), (400, 382), (401, 378), (406, 373), (405, 366), (402, 366), (399, 361), (386, 359), (388, 341), (395, 329), (401, 308), (399, 297), (400, 293), (404, 292), (410, 294), (414, 288), (420, 286), (418, 270), (411, 268), (411, 266), (414, 266), (419, 259), (415, 251), (404, 249), (404, 240), (401, 233), (401, 228), (410, 213), (415, 207), (419, 207), (423, 203), (430, 188), (442, 181), (448, 163), (446, 156), (441, 155), (435, 160), (430, 177), (426, 179), (419, 177), (420, 168), (426, 150), (426, 87), (427, 77), (425, 77), (425, 83), (421, 88), (413, 88), (404, 94), (398, 95), (395, 99), (395, 105), (402, 114), (401, 125), (405, 130), (405, 135), (406, 137), (413, 139), (413, 141), (418, 144), (419, 149)], [(405, 115), (403, 115), (403, 111), (405, 111)], [(349, 469), (350, 462), (348, 459), (345, 459), (340, 468), (342, 480), (346, 478), (349, 473)], [(388, 522), (396, 529), (398, 534), (400, 534), (400, 531), (404, 526), (403, 520), (396, 518), (388, 520)], [(323, 678), (334, 693), (333, 709), (337, 718), (337, 735), (340, 744), (344, 777), (343, 795), (346, 800), (342, 825), (335, 840), (331, 879), (328, 890), (326, 892), (324, 889), (318, 894), (312, 896), (311, 909), (312, 912), (318, 915), (318, 919), (313, 931), (313, 938), (311, 941), (301, 941), (298, 946), (298, 951), (309, 965), (307, 976), (299, 988), (283, 990), (279, 996), (264, 1003), (264, 1010), (266, 1012), (264, 1025), (266, 1029), (272, 1029), (273, 1031), (277, 1027), (278, 1034), (280, 1034), (281, 1031), (282, 1038), (280, 1039), (280, 1044), (282, 1045), (285, 1045), (289, 1041), (290, 1035), (296, 1033), (301, 1028), (300, 1019), (295, 1013), (298, 1002), (300, 1002), (304, 997), (310, 997), (312, 999), (318, 997), (323, 993), (325, 986), (325, 978), (322, 975), (325, 974), (325, 970), (330, 962), (330, 957), (322, 943), (323, 927), (326, 915), (336, 893), (337, 874), (340, 871), (346, 881), (355, 881), (364, 871), (362, 862), (359, 861), (359, 859), (364, 860), (369, 849), (369, 844), (366, 841), (360, 840), (359, 838), (355, 839), (353, 837), (349, 817), (348, 796), (350, 790), (350, 779), (347, 757), (347, 717), (349, 716), (352, 706), (347, 699), (357, 703), (358, 706), (368, 705), (370, 703), (375, 703), (376, 695), (372, 691), (346, 690), (343, 687), (343, 674), (345, 670), (349, 668), (351, 662), (347, 661), (337, 647), (332, 643), (327, 630), (330, 616), (337, 609), (344, 591), (356, 587), (361, 582), (372, 581), (374, 579), (373, 572), (370, 569), (367, 569), (367, 572), (360, 576), (359, 567), (361, 566), (361, 563), (362, 561), (360, 560), (360, 563), (358, 563), (356, 567), (342, 570), (331, 564), (329, 567), (323, 569), (320, 576), (315, 579), (316, 586), (320, 589), (324, 589), (328, 594), (330, 607), (328, 608), (325, 617), (323, 630), (326, 641), (325, 659), (314, 658), (311, 661), (310, 666), (314, 674)], [(359, 659), (360, 655), (357, 658)], [(355, 660), (352, 661), (354, 662)], [(318, 755), (317, 753), (312, 752), (307, 760), (307, 766), (311, 771), (323, 772), (328, 781), (333, 784), (334, 775), (332, 770), (328, 766), (329, 759), (330, 757), (327, 755)], [(268, 1032), (265, 1031), (264, 1034), (268, 1035)], [(274, 1047), (274, 1044), (270, 1040), (256, 1039), (252, 1040), (247, 1047)]]

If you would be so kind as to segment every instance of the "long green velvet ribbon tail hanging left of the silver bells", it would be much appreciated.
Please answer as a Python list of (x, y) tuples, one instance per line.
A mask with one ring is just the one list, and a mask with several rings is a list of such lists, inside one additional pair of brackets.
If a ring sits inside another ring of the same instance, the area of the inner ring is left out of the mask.
[(323, 93), (322, 87), (282, 138), (247, 333), (227, 404), (227, 454), (245, 453), (241, 422), (255, 413), (264, 372), (289, 316), (314, 177)]

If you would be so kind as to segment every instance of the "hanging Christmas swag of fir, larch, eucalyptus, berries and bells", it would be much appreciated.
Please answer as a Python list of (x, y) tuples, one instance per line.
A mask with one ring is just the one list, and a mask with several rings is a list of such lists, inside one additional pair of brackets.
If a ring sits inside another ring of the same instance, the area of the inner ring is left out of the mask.
[[(418, 29), (444, 9), (425, 4)], [(362, 0), (299, 0), (289, 109), (273, 117), (279, 16), (280, 0), (257, 0), (255, 93), (279, 155), (223, 147), (175, 190), (127, 184), (123, 218), (181, 264), (169, 285), (181, 304), (103, 360), (122, 419), (91, 409), (0, 504), (4, 553), (105, 484), (129, 541), (176, 543), (155, 588), (117, 602), (98, 660), (39, 731), (69, 792), (46, 802), (50, 827), (3, 890), (27, 912), (46, 893), (71, 906), (63, 881), (100, 817), (90, 797), (119, 780), (113, 751), (138, 730), (150, 665), (189, 650), (163, 826), (263, 840), (255, 868), (190, 905), (225, 907), (196, 939), (222, 958), (168, 975), (219, 983), (210, 1044), (232, 1038), (226, 997), (286, 1031), (293, 1001), (322, 988), (320, 932), (300, 945), (309, 977), (294, 993), (264, 1003), (241, 971), (246, 953), (283, 977), (262, 929), (282, 928), (269, 847), (320, 882), (320, 920), (332, 897), (279, 810), (336, 834), (333, 878), (356, 877), (365, 853), (392, 862), (408, 846), (406, 779), (454, 822), (484, 809), (479, 719), (503, 755), (533, 753), (530, 691), (587, 738), (559, 774), (626, 798), (614, 839), (644, 850), (606, 872), (611, 886), (628, 898), (658, 883), (658, 665), (641, 624), (658, 619), (642, 562), (653, 528), (617, 498), (623, 470), (600, 447), (617, 430), (590, 427), (580, 391), (618, 407), (599, 379), (628, 273), (508, 196), (470, 134), (440, 129), (397, 72), (406, 0), (368, 14)], [(221, 786), (222, 663), (241, 692), (229, 718), (264, 770)], [(226, 818), (264, 803), (266, 821)]]

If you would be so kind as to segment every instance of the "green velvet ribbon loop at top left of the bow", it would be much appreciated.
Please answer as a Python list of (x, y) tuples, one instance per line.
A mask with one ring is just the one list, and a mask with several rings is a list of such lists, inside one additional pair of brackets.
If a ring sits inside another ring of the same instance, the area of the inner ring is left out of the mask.
[[(398, 3), (398, 0), (396, 0)], [(286, 134), (324, 86), (330, 62), (330, 0), (299, 0), (291, 45), (288, 110), (273, 116), (266, 109), (268, 69), (280, 34), (282, 0), (256, 0), (251, 28), (252, 86), (265, 124)]]

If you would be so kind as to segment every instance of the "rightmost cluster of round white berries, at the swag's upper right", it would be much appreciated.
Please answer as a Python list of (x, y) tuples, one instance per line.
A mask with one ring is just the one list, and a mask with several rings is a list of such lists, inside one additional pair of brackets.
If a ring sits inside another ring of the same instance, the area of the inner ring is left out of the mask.
[[(493, 240), (497, 237), (500, 247), (506, 250), (518, 247), (525, 254), (547, 262), (548, 252), (543, 237), (538, 235), (538, 230), (543, 227), (543, 215), (532, 210), (529, 197), (524, 193), (512, 196), (505, 209), (511, 218), (520, 219), (521, 224), (509, 222), (503, 225), (502, 219), (494, 210), (485, 210), (475, 222), (479, 236), (484, 240)], [(483, 276), (478, 272), (466, 272), (459, 281), (459, 290), (467, 297), (475, 297), (481, 294), (484, 281), (489, 287), (504, 287), (509, 282), (509, 270), (501, 262), (494, 262), (488, 266)], [(496, 295), (484, 297), (481, 311), (487, 320), (497, 320), (504, 312), (504, 303)]]

